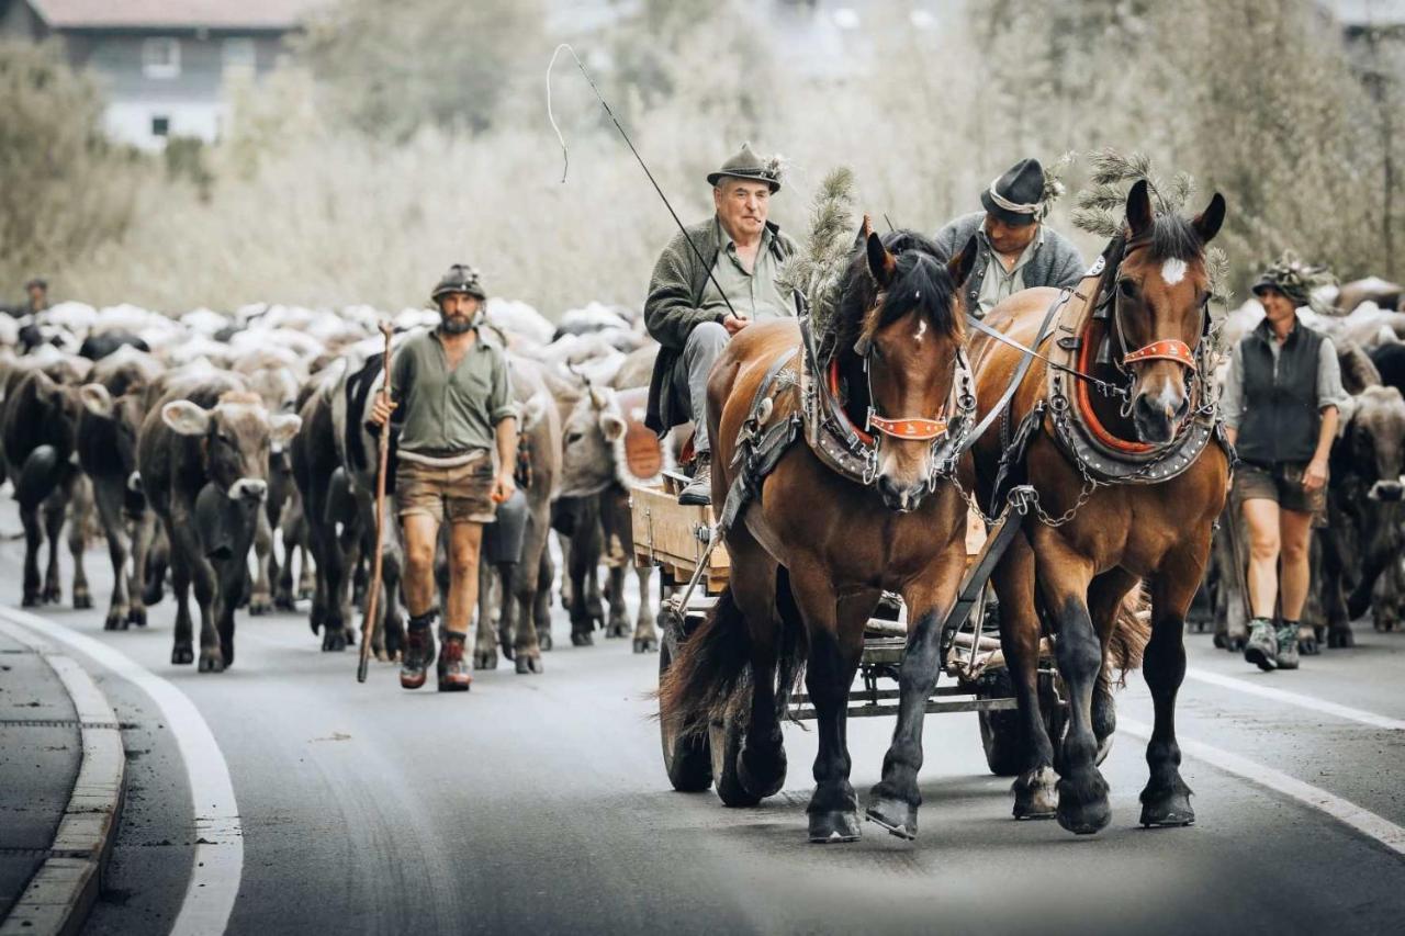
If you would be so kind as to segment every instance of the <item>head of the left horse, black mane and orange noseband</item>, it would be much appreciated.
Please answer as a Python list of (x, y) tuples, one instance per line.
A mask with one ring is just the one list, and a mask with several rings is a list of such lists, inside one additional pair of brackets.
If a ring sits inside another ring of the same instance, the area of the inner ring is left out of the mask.
[(868, 218), (858, 239), (840, 299), (837, 371), (851, 402), (864, 394), (873, 483), (889, 509), (908, 512), (932, 489), (953, 413), (964, 339), (958, 287), (975, 263), (975, 239), (950, 261), (919, 233), (880, 236)]

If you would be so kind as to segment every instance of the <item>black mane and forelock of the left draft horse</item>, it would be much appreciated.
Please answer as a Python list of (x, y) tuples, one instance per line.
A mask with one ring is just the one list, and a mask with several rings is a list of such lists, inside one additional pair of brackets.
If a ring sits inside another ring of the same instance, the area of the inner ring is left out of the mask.
[(873, 333), (898, 319), (917, 312), (943, 337), (960, 339), (961, 319), (953, 299), (957, 284), (947, 271), (941, 249), (916, 230), (892, 230), (882, 236), (882, 245), (896, 257), (896, 268), (881, 305), (870, 316), (868, 311), (880, 299), (880, 288), (868, 271), (868, 257), (857, 245), (840, 281), (839, 308), (835, 313), (836, 350), (846, 356), (865, 333)]

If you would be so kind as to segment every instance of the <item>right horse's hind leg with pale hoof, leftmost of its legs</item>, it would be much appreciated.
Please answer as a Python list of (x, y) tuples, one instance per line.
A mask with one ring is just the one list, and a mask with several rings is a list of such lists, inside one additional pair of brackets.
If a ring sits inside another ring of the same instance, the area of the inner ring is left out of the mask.
[(1010, 787), (1016, 819), (1051, 819), (1058, 808), (1054, 743), (1040, 711), (1040, 618), (1034, 604), (1034, 551), (1016, 535), (991, 576), (1000, 600), (1000, 651), (1014, 689), (1024, 763)]

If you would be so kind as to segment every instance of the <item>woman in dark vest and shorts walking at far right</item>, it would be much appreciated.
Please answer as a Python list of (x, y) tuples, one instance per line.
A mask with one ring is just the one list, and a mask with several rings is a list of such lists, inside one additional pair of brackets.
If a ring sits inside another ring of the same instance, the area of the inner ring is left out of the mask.
[[(1263, 320), (1229, 357), (1220, 410), (1239, 455), (1234, 495), (1249, 530), (1249, 639), (1259, 669), (1298, 668), (1298, 617), (1307, 600), (1308, 537), (1326, 498), (1338, 408), (1346, 401), (1332, 339), (1298, 320), (1331, 277), (1293, 254), (1253, 287)], [(1279, 578), (1281, 559), (1283, 576)], [(1281, 599), (1281, 621), (1273, 607)]]

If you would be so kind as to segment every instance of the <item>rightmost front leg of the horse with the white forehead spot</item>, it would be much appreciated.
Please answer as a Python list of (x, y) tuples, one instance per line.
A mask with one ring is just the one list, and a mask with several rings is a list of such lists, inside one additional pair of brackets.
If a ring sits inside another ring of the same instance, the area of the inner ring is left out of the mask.
[[(1208, 548), (1208, 544), (1207, 544)], [(1151, 779), (1141, 793), (1141, 824), (1145, 826), (1190, 825), (1190, 787), (1180, 777), (1180, 745), (1176, 743), (1176, 691), (1186, 676), (1186, 646), (1182, 635), (1186, 609), (1194, 597), (1194, 583), (1204, 569), (1204, 551), (1183, 548), (1168, 557), (1152, 578), (1152, 630), (1142, 659), (1142, 673), (1151, 689), (1155, 722), (1146, 743)]]

